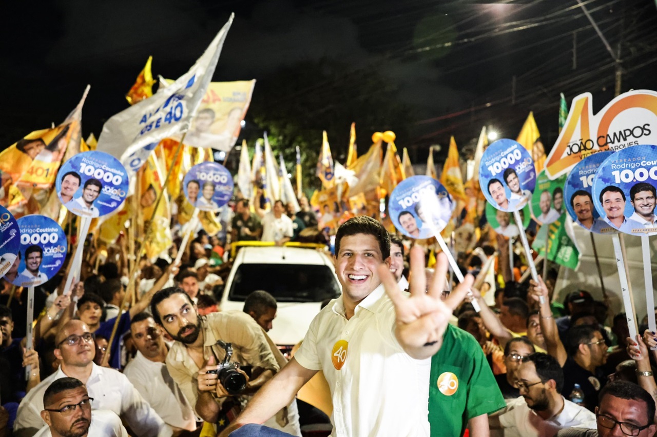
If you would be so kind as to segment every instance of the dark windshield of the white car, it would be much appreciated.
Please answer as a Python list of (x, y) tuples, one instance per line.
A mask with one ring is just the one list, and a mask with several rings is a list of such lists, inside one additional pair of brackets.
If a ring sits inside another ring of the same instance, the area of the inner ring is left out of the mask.
[(321, 302), (340, 295), (332, 270), (325, 265), (241, 264), (229, 291), (231, 301), (244, 301), (264, 290), (279, 302)]

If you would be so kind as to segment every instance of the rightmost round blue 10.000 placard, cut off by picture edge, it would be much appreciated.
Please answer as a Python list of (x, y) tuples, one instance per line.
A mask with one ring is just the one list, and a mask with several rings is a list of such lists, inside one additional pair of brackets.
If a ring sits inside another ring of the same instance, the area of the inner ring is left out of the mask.
[(639, 144), (607, 157), (593, 178), (593, 202), (603, 219), (632, 235), (656, 235), (657, 146)]

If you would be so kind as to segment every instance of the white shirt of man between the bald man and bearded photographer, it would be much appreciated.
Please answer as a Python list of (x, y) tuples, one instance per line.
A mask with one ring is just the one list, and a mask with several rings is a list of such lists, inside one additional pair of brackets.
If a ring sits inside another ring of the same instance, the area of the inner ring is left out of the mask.
[(137, 351), (134, 360), (125, 366), (124, 375), (165, 423), (188, 431), (196, 429), (192, 406), (169, 375), (166, 364), (152, 362)]

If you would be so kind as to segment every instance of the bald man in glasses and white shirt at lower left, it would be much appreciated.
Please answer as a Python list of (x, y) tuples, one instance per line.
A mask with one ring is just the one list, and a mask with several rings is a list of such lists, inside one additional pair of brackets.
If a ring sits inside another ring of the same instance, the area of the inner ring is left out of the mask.
[(16, 413), (14, 436), (32, 436), (44, 425), (40, 416), (43, 395), (48, 386), (64, 377), (79, 379), (95, 399), (93, 409), (114, 411), (138, 436), (171, 436), (158, 414), (135, 390), (127, 377), (114, 369), (93, 362), (96, 354), (93, 334), (80, 320), (70, 320), (55, 337), (55, 358), (61, 364), (57, 372), (44, 379), (23, 398)]

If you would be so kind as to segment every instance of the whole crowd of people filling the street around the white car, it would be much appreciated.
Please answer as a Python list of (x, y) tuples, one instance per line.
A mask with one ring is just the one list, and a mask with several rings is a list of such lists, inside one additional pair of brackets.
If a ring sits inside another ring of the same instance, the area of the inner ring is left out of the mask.
[[(330, 247), (342, 295), (284, 355), (267, 335), (277, 323), (267, 290), (253, 290), (243, 311), (217, 303), (229, 247), (328, 249), (331, 239), (306, 198), (300, 211), (282, 201), (266, 211), (260, 196), (231, 202), (225, 239), (198, 230), (179, 248), (178, 238), (170, 257), (138, 260), (132, 279), (125, 239), (102, 262), (90, 241), (70, 290), (66, 269), (35, 289), (34, 347), (26, 293), (3, 280), (0, 436), (319, 435), (308, 434), (314, 422), (332, 436), (657, 430), (657, 335), (643, 325), (630, 338), (625, 315), (587, 290), (559, 302), (556, 269), (520, 281), (504, 257), (491, 262), (509, 241), (493, 229), (457, 256), (466, 278), (457, 284), (445, 254), (428, 266), (426, 241), (367, 215), (346, 220)], [(330, 417), (296, 398), (317, 379)]]

